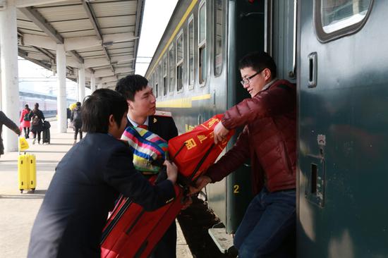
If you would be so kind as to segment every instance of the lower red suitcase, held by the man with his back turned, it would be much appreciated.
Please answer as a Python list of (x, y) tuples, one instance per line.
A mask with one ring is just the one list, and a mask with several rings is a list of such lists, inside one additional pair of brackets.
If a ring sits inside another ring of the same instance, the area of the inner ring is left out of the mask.
[(150, 212), (121, 197), (104, 228), (101, 257), (148, 257), (182, 209), (183, 189), (175, 191), (174, 201)]

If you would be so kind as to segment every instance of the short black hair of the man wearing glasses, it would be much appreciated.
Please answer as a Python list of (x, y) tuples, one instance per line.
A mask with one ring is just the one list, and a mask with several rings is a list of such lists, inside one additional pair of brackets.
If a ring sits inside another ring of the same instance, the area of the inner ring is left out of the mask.
[(277, 77), (276, 63), (265, 51), (255, 51), (243, 56), (238, 68), (241, 70), (247, 67), (253, 68), (256, 72), (268, 68), (271, 70), (271, 78)]

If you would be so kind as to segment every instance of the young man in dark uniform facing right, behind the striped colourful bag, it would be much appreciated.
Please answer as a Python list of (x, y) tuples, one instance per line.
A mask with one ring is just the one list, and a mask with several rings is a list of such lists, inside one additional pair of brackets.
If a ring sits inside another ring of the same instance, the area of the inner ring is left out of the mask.
[[(146, 78), (141, 75), (128, 75), (117, 82), (116, 91), (121, 93), (128, 103), (127, 126), (146, 128), (166, 141), (178, 135), (171, 113), (156, 111), (156, 98)], [(175, 221), (154, 248), (151, 257), (176, 257)]]

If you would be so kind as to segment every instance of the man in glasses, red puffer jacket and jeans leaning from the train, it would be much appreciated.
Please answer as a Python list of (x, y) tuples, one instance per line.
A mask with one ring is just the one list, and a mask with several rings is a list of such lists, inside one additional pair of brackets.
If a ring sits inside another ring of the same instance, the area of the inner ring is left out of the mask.
[(214, 142), (231, 129), (245, 127), (234, 147), (198, 178), (191, 192), (222, 180), (250, 159), (257, 195), (234, 237), (238, 257), (292, 257), (283, 244), (296, 226), (296, 86), (277, 80), (277, 66), (263, 51), (244, 56), (239, 68), (241, 84), (252, 98), (224, 113), (214, 128)]

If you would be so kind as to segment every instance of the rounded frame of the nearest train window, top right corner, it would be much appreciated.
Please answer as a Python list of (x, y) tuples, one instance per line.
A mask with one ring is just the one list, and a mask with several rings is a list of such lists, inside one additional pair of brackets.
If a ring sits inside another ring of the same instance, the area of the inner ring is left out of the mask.
[(370, 0), (368, 11), (365, 13), (365, 16), (362, 20), (347, 25), (346, 27), (341, 27), (338, 30), (334, 30), (332, 32), (325, 32), (324, 26), (322, 25), (322, 1), (323, 0), (315, 0), (314, 1), (314, 27), (317, 35), (317, 39), (322, 43), (331, 42), (335, 39), (339, 39), (341, 37), (345, 37), (347, 35), (355, 34), (360, 31), (365, 23), (368, 21), (370, 13), (372, 11), (373, 4), (375, 0)]

